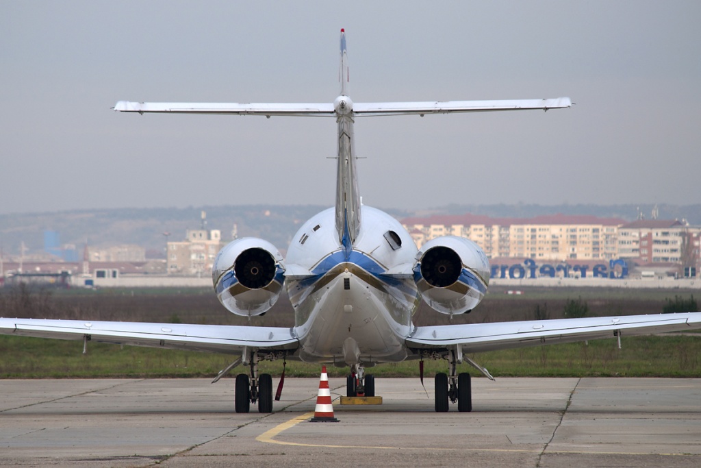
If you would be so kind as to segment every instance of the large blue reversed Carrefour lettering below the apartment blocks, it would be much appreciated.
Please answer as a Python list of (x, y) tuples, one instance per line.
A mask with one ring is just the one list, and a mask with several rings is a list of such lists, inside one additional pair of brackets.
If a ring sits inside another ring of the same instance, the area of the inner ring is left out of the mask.
[(569, 278), (570, 276), (578, 276), (586, 278), (613, 278), (622, 279), (628, 276), (628, 265), (625, 260), (610, 260), (608, 265), (599, 263), (589, 270), (590, 265), (569, 265), (561, 263), (559, 265), (543, 264), (537, 265), (530, 258), (526, 258), (523, 263), (515, 263), (513, 265), (491, 265), (491, 278), (499, 279), (524, 279), (524, 278), (554, 278), (562, 276)]

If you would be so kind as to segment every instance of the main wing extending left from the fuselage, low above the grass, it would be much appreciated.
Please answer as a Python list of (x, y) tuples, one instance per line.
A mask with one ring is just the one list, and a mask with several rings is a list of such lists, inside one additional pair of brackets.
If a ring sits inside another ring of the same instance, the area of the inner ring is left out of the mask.
[(241, 354), (250, 348), (297, 349), (292, 328), (87, 320), (0, 319), (1, 335)]

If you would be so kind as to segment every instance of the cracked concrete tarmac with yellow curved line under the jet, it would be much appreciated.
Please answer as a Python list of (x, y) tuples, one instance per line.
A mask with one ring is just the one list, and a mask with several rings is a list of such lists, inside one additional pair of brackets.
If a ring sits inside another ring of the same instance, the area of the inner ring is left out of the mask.
[(435, 413), (433, 379), (377, 379), (381, 406), (312, 423), (318, 382), (287, 378), (264, 415), (234, 413), (229, 378), (2, 380), (0, 465), (701, 466), (701, 379), (476, 378), (472, 413)]

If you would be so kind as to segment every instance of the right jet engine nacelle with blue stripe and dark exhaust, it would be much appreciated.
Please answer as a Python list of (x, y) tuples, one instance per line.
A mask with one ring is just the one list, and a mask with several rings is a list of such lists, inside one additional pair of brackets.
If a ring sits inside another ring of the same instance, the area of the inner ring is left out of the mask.
[(489, 286), (489, 260), (476, 243), (442, 236), (423, 244), (416, 254), (414, 281), (421, 297), (442, 314), (470, 312)]

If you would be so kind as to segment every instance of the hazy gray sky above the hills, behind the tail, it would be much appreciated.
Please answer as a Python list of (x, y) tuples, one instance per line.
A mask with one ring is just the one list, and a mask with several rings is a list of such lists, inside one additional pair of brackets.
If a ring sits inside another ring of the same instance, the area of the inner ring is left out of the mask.
[(117, 100), (570, 96), (358, 119), (363, 201), (700, 203), (698, 1), (0, 0), (0, 213), (334, 203), (333, 119), (120, 114)]

